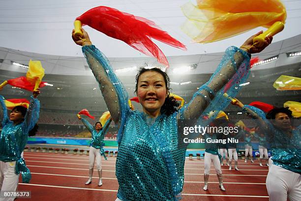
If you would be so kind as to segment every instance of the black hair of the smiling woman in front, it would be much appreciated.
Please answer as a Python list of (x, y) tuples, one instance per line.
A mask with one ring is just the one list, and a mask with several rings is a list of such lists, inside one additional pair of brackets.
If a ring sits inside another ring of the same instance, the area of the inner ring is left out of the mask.
[(155, 72), (158, 72), (160, 73), (163, 78), (164, 78), (164, 82), (165, 82), (165, 86), (166, 86), (166, 90), (168, 91), (168, 95), (167, 97), (165, 98), (165, 101), (161, 107), (161, 114), (166, 114), (167, 116), (173, 114), (174, 112), (178, 111), (176, 107), (179, 107), (180, 106), (180, 103), (177, 102), (177, 100), (174, 98), (174, 97), (170, 97), (169, 96), (169, 90), (171, 89), (169, 86), (170, 86), (170, 79), (169, 79), (169, 76), (166, 72), (160, 70), (159, 68), (157, 67), (154, 67), (154, 68), (144, 68), (144, 67), (140, 67), (140, 69), (138, 70), (138, 73), (136, 75), (136, 86), (135, 86), (135, 94), (137, 95), (137, 91), (138, 91), (138, 79), (140, 77), (140, 75), (144, 72), (147, 72), (147, 71), (155, 71)]

